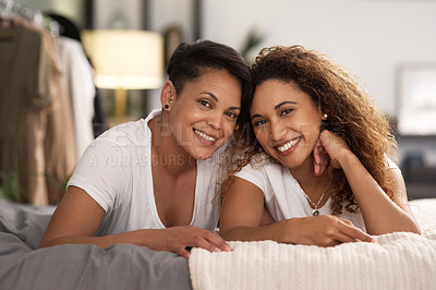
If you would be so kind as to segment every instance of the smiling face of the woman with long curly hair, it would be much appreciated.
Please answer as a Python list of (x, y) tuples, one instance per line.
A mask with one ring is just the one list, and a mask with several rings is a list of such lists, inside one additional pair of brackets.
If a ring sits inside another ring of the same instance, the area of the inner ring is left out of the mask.
[(265, 81), (256, 87), (250, 113), (254, 133), (268, 155), (290, 169), (308, 164), (322, 112), (307, 94), (292, 83)]

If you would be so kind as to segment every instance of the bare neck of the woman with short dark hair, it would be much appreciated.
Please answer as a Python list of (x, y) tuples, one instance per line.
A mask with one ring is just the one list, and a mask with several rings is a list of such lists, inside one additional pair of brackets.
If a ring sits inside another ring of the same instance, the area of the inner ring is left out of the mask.
[(152, 166), (162, 168), (172, 176), (180, 176), (196, 168), (195, 159), (180, 146), (169, 124), (162, 118), (148, 122), (152, 131)]

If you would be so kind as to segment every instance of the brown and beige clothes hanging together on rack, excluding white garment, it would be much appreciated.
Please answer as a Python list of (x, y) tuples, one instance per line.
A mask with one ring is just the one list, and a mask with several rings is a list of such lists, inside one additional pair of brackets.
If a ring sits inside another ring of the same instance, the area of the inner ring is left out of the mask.
[(77, 161), (57, 45), (49, 32), (13, 15), (1, 21), (0, 63), (0, 170), (17, 172), (20, 201), (57, 204)]

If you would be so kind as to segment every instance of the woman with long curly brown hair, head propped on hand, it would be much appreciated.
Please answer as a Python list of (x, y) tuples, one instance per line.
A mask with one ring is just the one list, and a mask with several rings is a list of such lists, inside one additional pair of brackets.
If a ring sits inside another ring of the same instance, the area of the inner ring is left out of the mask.
[(247, 128), (221, 190), (226, 240), (328, 246), (420, 232), (388, 158), (389, 122), (343, 69), (292, 46), (263, 49), (252, 73)]

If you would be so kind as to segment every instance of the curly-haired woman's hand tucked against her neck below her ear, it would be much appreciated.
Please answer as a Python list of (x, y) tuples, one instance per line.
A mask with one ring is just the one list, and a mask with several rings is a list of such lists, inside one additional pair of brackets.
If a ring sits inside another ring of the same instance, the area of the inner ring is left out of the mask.
[[(331, 131), (324, 130), (323, 132), (320, 132), (318, 142), (320, 144), (320, 148), (318, 148), (318, 150), (325, 152), (325, 154), (328, 156), (329, 159), (328, 172), (330, 174), (335, 169), (341, 168), (340, 160), (343, 157), (346, 157), (347, 155), (354, 155), (348, 147), (346, 141)], [(315, 148), (317, 146), (315, 146)], [(314, 157), (315, 157), (315, 148), (314, 148)], [(318, 153), (317, 155), (322, 156), (320, 153)], [(314, 159), (316, 159), (316, 157)]]

